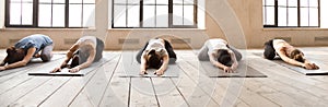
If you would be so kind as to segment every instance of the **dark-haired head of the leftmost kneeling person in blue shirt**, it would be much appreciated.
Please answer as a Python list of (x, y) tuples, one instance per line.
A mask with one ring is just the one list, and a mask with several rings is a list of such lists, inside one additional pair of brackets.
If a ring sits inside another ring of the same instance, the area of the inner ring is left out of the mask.
[(16, 49), (15, 47), (9, 47), (7, 48), (7, 62), (10, 63), (14, 63), (17, 61), (22, 61), (24, 59), (24, 57), (26, 56), (26, 52), (23, 49)]

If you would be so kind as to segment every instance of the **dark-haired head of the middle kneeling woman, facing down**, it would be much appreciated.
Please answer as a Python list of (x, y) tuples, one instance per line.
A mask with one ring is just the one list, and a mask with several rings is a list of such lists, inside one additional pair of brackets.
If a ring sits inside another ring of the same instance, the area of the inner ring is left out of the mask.
[(150, 68), (154, 68), (154, 69), (160, 69), (162, 66), (162, 59), (160, 58), (159, 55), (155, 54), (155, 50), (151, 50), (148, 54), (148, 61), (147, 64)]

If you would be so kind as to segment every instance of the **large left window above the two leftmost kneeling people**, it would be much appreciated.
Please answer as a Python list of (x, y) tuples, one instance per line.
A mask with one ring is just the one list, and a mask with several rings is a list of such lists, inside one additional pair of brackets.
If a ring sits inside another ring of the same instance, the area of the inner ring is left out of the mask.
[(5, 0), (7, 27), (91, 27), (95, 0)]

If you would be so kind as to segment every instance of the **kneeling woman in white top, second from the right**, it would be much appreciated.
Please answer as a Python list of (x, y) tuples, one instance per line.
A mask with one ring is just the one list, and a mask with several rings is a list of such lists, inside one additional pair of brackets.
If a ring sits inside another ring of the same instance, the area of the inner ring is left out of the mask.
[(199, 50), (198, 59), (200, 61), (210, 60), (215, 67), (231, 73), (237, 68), (242, 54), (224, 39), (212, 38), (208, 39)]

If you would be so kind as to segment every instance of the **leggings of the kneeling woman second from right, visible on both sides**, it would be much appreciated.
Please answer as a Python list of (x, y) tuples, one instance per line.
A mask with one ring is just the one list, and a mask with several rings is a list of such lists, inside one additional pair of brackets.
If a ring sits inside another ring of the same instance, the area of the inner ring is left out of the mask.
[[(231, 49), (235, 54), (237, 61), (239, 61), (243, 58), (242, 54), (239, 51), (237, 51), (235, 47), (227, 46), (227, 48)], [(210, 58), (209, 58), (208, 51), (209, 51), (208, 46), (206, 46), (206, 45), (202, 46), (198, 52), (198, 59), (200, 61), (209, 61)]]

